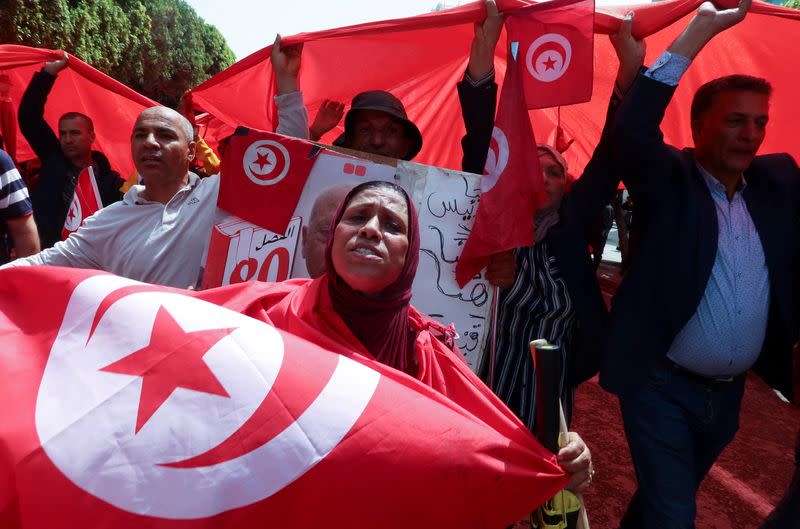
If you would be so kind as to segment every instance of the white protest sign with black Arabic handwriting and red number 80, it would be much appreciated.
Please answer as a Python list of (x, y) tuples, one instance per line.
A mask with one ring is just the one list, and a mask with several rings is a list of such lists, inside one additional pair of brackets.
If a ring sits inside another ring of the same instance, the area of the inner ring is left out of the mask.
[[(286, 233), (274, 233), (218, 210), (202, 287), (310, 277), (309, 270), (319, 269), (316, 260), (323, 259), (324, 252), (319, 250), (324, 247), (335, 205), (347, 190), (371, 180), (395, 182), (408, 192), (420, 221), (420, 264), (411, 303), (446, 325), (453, 323), (458, 333), (456, 344), (467, 363), (477, 366), (489, 329), (492, 289), (482, 274), (460, 288), (455, 280), (455, 266), (477, 211), (480, 177), (363, 156), (323, 149), (314, 160)], [(329, 207), (326, 213), (318, 205), (315, 211), (315, 203), (331, 196), (333, 210)], [(270, 203), (284, 198), (276, 193)], [(318, 218), (321, 215), (324, 218)], [(320, 227), (322, 236), (315, 239), (314, 230)]]

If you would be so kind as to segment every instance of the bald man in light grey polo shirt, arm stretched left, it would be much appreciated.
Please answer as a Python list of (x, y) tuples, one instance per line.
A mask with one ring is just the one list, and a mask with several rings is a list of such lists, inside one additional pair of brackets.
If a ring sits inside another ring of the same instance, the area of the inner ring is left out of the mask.
[(131, 135), (131, 153), (145, 185), (101, 209), (65, 241), (6, 266), (94, 268), (178, 288), (195, 285), (211, 233), (219, 177), (189, 171), (192, 126), (167, 107), (144, 110)]

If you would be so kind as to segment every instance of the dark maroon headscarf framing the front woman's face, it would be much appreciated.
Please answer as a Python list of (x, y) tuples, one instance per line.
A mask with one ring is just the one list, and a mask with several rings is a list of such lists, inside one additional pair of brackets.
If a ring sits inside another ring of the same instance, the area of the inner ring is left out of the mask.
[(347, 204), (364, 189), (383, 184), (360, 184), (339, 204), (331, 222), (325, 248), (328, 291), (333, 308), (376, 360), (414, 376), (417, 371), (414, 349), (416, 335), (409, 325), (408, 307), (411, 301), (411, 284), (419, 264), (419, 222), (414, 204), (401, 187), (389, 184), (392, 189), (402, 193), (408, 205), (408, 251), (400, 277), (378, 296), (373, 297), (353, 290), (333, 267), (333, 237)]

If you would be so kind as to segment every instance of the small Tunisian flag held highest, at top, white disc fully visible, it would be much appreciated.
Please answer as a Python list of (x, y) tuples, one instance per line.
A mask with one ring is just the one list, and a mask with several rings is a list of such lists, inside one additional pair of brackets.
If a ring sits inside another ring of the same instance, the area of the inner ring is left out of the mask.
[(592, 98), (594, 0), (555, 0), (509, 13), (508, 39), (519, 42), (528, 108)]

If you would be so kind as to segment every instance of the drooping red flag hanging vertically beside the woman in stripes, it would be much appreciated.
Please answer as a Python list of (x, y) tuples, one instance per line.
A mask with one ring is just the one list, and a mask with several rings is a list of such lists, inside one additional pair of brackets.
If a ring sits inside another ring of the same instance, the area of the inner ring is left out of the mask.
[(546, 198), (520, 77), (519, 63), (509, 53), (478, 213), (456, 264), (462, 287), (490, 255), (533, 244), (533, 214)]

